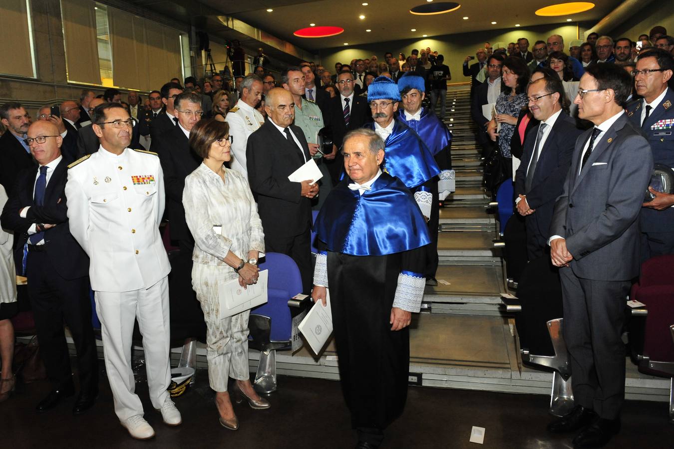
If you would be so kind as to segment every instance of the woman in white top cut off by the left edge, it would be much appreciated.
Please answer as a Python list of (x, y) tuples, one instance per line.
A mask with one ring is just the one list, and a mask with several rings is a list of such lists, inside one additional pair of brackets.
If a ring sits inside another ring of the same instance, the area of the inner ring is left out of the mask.
[[(7, 203), (7, 193), (0, 185), (0, 211)], [(14, 327), (12, 316), (19, 311), (16, 302), (16, 271), (11, 251), (14, 236), (1, 228), (0, 223), (0, 359), (2, 372), (0, 375), (0, 403), (7, 401), (14, 390), (16, 380), (11, 372), (11, 361), (14, 355)]]

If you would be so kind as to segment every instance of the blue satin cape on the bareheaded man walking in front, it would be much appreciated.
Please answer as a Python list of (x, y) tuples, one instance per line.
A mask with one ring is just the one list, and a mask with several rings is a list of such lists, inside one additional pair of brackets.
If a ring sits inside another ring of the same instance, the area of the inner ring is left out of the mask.
[(426, 220), (408, 189), (382, 173), (363, 195), (346, 178), (332, 189), (316, 217), (314, 230), (332, 252), (385, 256), (431, 242)]

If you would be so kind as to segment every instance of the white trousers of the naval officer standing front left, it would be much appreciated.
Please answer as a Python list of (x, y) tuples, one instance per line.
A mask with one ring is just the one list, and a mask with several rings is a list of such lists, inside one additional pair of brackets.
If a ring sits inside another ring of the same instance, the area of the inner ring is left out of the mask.
[(150, 400), (152, 406), (159, 409), (166, 401), (166, 388), (171, 383), (168, 277), (148, 289), (96, 291), (95, 298), (103, 337), (105, 369), (117, 417), (123, 421), (143, 414), (131, 371), (131, 337), (135, 318), (143, 335)]

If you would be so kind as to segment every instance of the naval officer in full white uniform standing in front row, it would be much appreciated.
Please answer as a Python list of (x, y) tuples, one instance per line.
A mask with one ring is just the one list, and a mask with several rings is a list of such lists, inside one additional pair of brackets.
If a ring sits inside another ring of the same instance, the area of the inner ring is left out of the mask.
[(129, 149), (132, 122), (118, 103), (94, 111), (96, 153), (70, 164), (65, 195), (70, 232), (91, 259), (89, 275), (103, 336), (115, 413), (133, 438), (154, 429), (134, 393), (131, 337), (143, 335), (152, 406), (164, 423), (182, 422), (166, 388), (169, 364), (168, 264), (159, 234), (164, 213), (162, 168), (156, 153)]

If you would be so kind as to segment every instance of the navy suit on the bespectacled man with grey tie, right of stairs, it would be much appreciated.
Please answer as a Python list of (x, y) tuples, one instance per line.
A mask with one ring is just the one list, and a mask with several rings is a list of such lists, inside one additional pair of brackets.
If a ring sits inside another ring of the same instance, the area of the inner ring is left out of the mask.
[(524, 217), (526, 251), (530, 261), (543, 256), (547, 248), (555, 200), (561, 195), (564, 180), (571, 165), (576, 139), (582, 133), (576, 128), (573, 118), (564, 111), (559, 112), (541, 148), (530, 190), (526, 191), (526, 174), (534, 153), (538, 132), (539, 127), (533, 127), (528, 131), (524, 139), (522, 164), (515, 175), (515, 194), (526, 195), (529, 207), (536, 209), (534, 213)]

